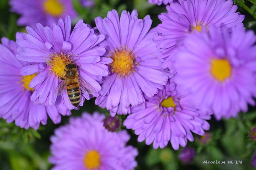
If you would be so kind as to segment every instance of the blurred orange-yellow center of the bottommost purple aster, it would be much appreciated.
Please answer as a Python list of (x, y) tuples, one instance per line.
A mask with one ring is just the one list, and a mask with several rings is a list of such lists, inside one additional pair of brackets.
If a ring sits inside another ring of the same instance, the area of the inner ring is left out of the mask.
[(100, 159), (100, 154), (96, 150), (91, 150), (84, 157), (84, 166), (87, 169), (98, 169), (101, 163)]

